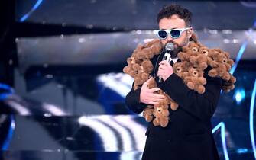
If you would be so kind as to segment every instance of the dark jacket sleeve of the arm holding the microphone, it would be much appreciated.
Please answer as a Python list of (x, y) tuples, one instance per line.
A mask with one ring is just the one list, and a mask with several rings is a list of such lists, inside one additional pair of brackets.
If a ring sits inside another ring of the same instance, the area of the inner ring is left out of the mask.
[(183, 83), (183, 79), (176, 74), (170, 75), (165, 82), (157, 85), (170, 98), (173, 98), (181, 109), (186, 110), (186, 112), (201, 120), (209, 120), (214, 114), (219, 101), (222, 80), (209, 77), (208, 72), (205, 72), (204, 77), (207, 83), (204, 85), (206, 91), (203, 94), (188, 88)]

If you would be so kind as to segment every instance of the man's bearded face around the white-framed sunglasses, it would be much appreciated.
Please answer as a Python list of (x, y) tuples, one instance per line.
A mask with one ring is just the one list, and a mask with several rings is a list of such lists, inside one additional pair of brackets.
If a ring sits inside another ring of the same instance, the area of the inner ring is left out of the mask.
[[(186, 28), (185, 21), (179, 18), (177, 14), (172, 15), (170, 18), (163, 18), (159, 21), (159, 29), (161, 30), (176, 28)], [(185, 30), (177, 39), (173, 39), (172, 37), (170, 37), (170, 34), (168, 34), (168, 37), (164, 40), (161, 40), (161, 43), (163, 46), (165, 46), (169, 42), (174, 43), (174, 48), (177, 50), (178, 48), (186, 46), (189, 43), (191, 34), (188, 33), (191, 33), (191, 31), (191, 29)]]

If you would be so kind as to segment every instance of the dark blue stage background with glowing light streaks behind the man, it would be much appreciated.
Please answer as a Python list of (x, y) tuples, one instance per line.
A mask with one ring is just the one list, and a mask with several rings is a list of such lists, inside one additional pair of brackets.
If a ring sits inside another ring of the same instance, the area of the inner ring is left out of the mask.
[[(212, 117), (222, 159), (255, 159), (256, 2), (171, 1), (193, 12), (199, 41), (228, 51), (236, 88)], [(2, 159), (140, 159), (147, 123), (125, 106), (122, 73), (156, 38), (164, 0), (0, 2)]]

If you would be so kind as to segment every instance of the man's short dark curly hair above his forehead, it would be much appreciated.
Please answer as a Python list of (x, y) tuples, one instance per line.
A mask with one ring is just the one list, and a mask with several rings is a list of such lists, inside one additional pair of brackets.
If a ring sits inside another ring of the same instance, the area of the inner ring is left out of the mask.
[(180, 5), (165, 5), (157, 14), (157, 23), (159, 24), (160, 20), (163, 18), (170, 18), (172, 15), (177, 14), (179, 18), (182, 18), (186, 27), (191, 26), (192, 13), (186, 9), (182, 8)]

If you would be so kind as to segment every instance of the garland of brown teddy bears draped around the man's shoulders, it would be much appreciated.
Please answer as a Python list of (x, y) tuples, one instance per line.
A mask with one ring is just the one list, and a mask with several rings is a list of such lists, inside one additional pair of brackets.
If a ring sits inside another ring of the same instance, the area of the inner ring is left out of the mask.
[[(159, 55), (162, 50), (160, 40), (152, 40), (144, 45), (138, 44), (137, 48), (127, 59), (128, 66), (125, 66), (123, 72), (134, 78), (134, 90), (143, 85), (150, 78), (154, 69), (152, 59)], [(229, 54), (220, 49), (209, 49), (197, 41), (192, 41), (188, 46), (183, 46), (183, 52), (178, 53), (181, 62), (173, 65), (173, 72), (183, 79), (186, 86), (199, 94), (206, 90), (206, 78), (203, 77), (204, 69), (210, 66), (208, 75), (210, 77), (219, 77), (224, 80), (222, 83), (223, 91), (230, 91), (235, 88), (235, 77), (229, 73), (234, 61), (230, 59)], [(157, 87), (157, 82), (151, 78), (148, 88)], [(163, 94), (164, 99), (158, 104), (147, 105), (143, 111), (143, 117), (147, 122), (153, 120), (154, 126), (165, 127), (169, 123), (169, 106), (171, 110), (177, 110), (178, 104), (173, 101), (164, 91), (156, 91), (155, 94)]]

